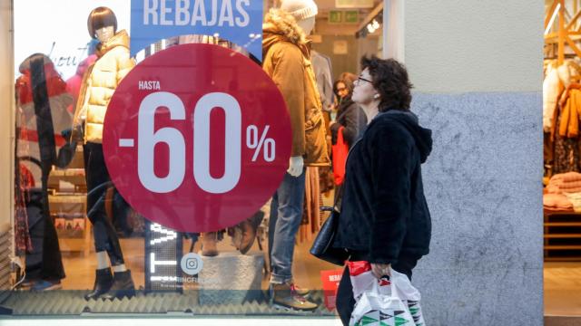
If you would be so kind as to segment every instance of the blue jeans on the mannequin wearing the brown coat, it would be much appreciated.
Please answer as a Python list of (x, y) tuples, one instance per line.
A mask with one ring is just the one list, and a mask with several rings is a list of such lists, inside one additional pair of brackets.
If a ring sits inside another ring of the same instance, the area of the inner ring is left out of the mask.
[(284, 175), (271, 201), (269, 221), (269, 257), (271, 283), (292, 281), (292, 256), (302, 219), (305, 197), (305, 169), (299, 177)]

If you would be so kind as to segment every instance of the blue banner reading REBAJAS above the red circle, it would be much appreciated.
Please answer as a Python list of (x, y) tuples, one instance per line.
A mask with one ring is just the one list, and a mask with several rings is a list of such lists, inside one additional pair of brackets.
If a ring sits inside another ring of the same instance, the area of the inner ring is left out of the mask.
[(131, 53), (172, 36), (218, 36), (262, 59), (262, 0), (132, 0)]

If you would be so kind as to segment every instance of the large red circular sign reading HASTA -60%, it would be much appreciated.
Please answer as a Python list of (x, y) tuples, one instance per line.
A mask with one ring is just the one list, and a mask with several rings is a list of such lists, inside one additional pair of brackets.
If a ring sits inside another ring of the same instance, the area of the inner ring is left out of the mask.
[(123, 79), (105, 115), (103, 151), (114, 186), (145, 218), (218, 231), (279, 187), (291, 123), (258, 64), (218, 45), (183, 44)]

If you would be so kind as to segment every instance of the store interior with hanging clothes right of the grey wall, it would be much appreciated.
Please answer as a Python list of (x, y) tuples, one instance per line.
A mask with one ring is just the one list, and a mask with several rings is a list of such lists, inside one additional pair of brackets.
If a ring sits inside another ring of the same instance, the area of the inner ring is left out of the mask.
[(581, 3), (546, 0), (543, 129), (545, 315), (581, 316), (581, 176), (576, 101), (581, 86)]

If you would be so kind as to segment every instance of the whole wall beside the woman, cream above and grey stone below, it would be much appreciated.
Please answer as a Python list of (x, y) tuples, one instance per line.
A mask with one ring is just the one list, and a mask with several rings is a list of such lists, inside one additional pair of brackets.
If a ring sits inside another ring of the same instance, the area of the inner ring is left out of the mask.
[(541, 326), (543, 2), (404, 1), (411, 109), (434, 140), (426, 321)]

